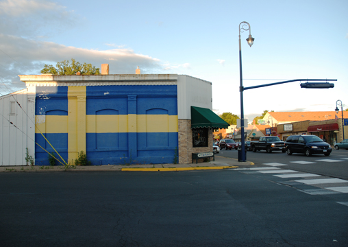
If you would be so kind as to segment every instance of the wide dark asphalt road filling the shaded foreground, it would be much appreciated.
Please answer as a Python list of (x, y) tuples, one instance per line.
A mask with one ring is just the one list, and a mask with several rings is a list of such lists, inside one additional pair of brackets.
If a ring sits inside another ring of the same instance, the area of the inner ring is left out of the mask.
[(347, 193), (245, 169), (0, 174), (0, 246), (348, 246)]

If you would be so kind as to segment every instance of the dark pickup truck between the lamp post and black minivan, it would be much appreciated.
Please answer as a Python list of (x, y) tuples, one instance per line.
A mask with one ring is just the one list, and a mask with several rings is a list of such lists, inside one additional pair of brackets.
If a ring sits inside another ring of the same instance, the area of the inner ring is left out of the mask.
[(285, 143), (280, 141), (279, 137), (260, 137), (259, 141), (251, 141), (251, 150), (253, 152), (266, 150), (268, 153), (272, 151), (286, 151)]

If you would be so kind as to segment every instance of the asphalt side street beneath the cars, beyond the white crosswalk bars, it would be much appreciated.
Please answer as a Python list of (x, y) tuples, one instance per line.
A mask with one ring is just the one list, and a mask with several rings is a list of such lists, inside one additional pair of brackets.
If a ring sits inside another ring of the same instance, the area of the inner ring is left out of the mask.
[[(216, 155), (238, 158), (237, 150), (221, 150)], [(348, 180), (348, 150), (332, 150), (330, 156), (313, 154), (310, 157), (304, 154), (288, 155), (279, 151), (271, 154), (266, 151), (248, 151), (247, 161), (251, 161), (255, 165), (282, 163), (287, 165), (288, 169), (295, 169), (299, 172), (310, 172)]]

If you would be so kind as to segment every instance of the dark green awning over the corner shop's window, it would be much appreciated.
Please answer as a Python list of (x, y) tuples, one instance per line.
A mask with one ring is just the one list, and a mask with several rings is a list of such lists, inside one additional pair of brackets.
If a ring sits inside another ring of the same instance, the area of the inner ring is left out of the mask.
[(191, 128), (228, 128), (229, 124), (208, 108), (191, 106)]

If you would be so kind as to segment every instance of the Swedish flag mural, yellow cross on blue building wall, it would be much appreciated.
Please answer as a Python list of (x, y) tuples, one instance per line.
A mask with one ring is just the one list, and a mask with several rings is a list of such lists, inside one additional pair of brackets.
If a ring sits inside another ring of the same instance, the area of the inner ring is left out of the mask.
[(35, 115), (36, 142), (69, 162), (173, 163), (178, 146), (177, 85), (36, 86)]

